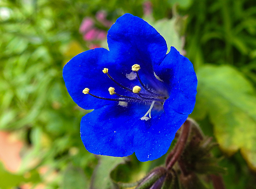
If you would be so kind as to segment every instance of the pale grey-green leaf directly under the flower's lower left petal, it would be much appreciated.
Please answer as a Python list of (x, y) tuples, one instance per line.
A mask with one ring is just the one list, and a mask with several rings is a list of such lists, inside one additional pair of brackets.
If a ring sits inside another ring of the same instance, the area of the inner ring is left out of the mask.
[(110, 189), (112, 186), (110, 173), (119, 164), (125, 162), (123, 157), (99, 156), (99, 163), (94, 170), (91, 189)]

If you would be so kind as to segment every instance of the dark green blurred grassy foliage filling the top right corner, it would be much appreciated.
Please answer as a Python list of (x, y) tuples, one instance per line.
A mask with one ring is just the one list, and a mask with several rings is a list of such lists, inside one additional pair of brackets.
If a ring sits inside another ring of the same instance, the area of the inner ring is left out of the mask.
[(194, 0), (184, 14), (189, 15), (188, 58), (196, 66), (231, 64), (256, 82), (255, 1)]

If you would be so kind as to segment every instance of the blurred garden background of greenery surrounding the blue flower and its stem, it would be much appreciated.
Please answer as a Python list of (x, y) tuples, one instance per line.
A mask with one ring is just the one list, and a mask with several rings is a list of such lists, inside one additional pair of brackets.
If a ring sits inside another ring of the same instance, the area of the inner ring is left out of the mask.
[(124, 13), (144, 18), (194, 64), (190, 117), (219, 143), (226, 187), (256, 188), (255, 0), (0, 0), (0, 189), (108, 189), (113, 178), (136, 181), (164, 163), (132, 155), (112, 171), (127, 160), (86, 151), (79, 127), (88, 111), (62, 79), (73, 56), (107, 47)]

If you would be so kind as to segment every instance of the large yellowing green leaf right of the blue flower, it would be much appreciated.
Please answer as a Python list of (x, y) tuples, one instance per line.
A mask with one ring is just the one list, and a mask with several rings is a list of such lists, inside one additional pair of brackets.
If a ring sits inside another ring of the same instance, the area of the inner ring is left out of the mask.
[(256, 170), (256, 94), (252, 84), (230, 66), (204, 66), (197, 76), (192, 117), (203, 119), (208, 113), (220, 148), (228, 155), (240, 150)]

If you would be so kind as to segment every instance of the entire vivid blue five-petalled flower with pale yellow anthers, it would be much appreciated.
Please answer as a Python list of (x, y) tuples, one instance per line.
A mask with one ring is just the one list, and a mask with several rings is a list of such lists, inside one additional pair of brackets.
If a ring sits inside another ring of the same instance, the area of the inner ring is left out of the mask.
[(109, 51), (78, 54), (63, 69), (66, 88), (84, 109), (80, 133), (94, 154), (140, 161), (164, 155), (195, 105), (192, 63), (147, 22), (124, 14), (108, 31)]

